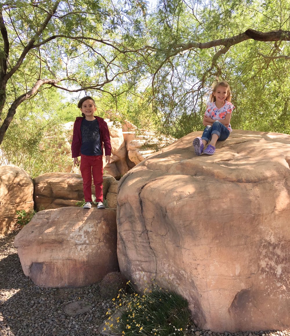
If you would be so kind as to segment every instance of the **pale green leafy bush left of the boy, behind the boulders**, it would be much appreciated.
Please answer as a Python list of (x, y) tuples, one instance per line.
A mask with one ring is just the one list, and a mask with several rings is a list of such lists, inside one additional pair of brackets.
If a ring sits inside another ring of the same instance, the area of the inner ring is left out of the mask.
[(59, 98), (50, 90), (22, 104), (2, 142), (6, 162), (23, 168), (32, 178), (72, 166), (70, 145), (57, 117), (57, 109), (62, 109)]

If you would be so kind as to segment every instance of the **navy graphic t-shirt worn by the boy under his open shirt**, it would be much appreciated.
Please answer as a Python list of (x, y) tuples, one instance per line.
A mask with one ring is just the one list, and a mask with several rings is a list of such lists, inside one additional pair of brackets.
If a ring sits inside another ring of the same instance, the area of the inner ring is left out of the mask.
[(98, 120), (83, 118), (80, 126), (82, 145), (80, 152), (83, 155), (103, 155), (101, 150), (100, 128)]

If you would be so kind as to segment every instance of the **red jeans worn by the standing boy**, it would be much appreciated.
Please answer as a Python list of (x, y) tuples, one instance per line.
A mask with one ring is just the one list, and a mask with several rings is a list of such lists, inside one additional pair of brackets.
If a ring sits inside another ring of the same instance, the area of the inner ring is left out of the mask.
[(96, 202), (103, 202), (103, 156), (80, 156), (80, 172), (83, 180), (85, 202), (92, 202), (92, 174), (96, 192)]

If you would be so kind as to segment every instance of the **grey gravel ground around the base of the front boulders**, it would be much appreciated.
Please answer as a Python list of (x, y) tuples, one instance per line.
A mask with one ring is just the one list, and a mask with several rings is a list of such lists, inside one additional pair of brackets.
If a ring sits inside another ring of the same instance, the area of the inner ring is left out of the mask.
[[(13, 240), (17, 231), (0, 238), (0, 335), (92, 336), (100, 335), (111, 299), (103, 299), (98, 284), (73, 289), (40, 288), (22, 271)], [(87, 302), (88, 312), (70, 316), (65, 307)], [(194, 336), (290, 336), (290, 331), (215, 333), (189, 326)]]

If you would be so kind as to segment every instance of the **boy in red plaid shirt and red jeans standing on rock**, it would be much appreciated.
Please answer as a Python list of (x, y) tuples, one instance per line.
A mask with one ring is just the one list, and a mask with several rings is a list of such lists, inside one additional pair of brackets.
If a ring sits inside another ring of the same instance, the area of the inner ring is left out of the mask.
[(73, 127), (71, 144), (74, 166), (79, 164), (83, 179), (84, 208), (92, 207), (92, 174), (96, 190), (98, 208), (105, 208), (103, 204), (103, 143), (106, 162), (111, 162), (111, 141), (108, 125), (103, 118), (94, 116), (95, 100), (90, 96), (80, 99), (77, 107), (82, 117), (77, 117)]

